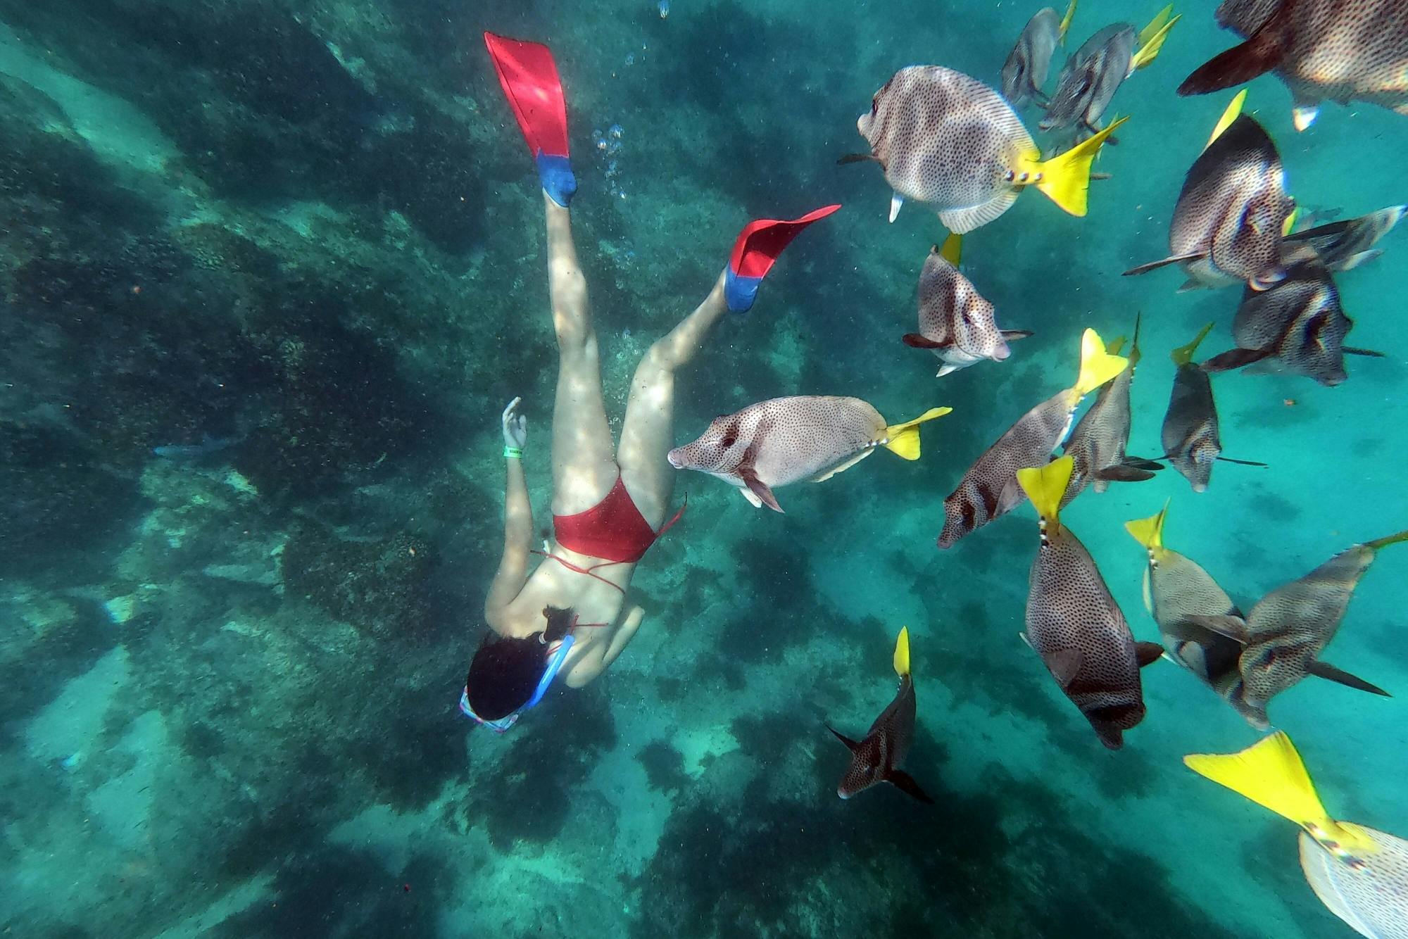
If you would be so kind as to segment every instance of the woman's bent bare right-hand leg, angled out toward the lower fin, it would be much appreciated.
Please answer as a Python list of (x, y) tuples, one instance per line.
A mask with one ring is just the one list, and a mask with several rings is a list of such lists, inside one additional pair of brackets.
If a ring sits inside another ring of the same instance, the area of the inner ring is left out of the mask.
[(704, 303), (650, 346), (631, 379), (617, 462), (631, 498), (655, 528), (665, 524), (674, 489), (676, 470), (665, 459), (674, 445), (674, 372), (689, 365), (727, 311), (719, 276)]

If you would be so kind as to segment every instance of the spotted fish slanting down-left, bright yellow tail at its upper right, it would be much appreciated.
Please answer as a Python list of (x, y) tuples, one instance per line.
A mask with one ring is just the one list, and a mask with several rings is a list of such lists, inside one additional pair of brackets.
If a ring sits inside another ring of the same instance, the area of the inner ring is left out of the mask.
[(1070, 429), (1070, 418), (1081, 398), (1124, 372), (1128, 363), (1128, 359), (1110, 355), (1094, 329), (1086, 329), (1076, 384), (1024, 414), (977, 458), (943, 500), (939, 548), (953, 546), (960, 538), (1021, 503), (1022, 487), (1017, 483), (1017, 470), (1043, 466)]

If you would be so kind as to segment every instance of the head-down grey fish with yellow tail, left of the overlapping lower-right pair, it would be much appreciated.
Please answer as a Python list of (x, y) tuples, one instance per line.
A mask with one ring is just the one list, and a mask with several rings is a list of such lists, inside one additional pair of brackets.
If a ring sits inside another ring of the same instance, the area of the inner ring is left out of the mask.
[(1149, 555), (1145, 567), (1145, 608), (1159, 624), (1166, 655), (1198, 676), (1224, 700), (1242, 687), (1238, 660), (1242, 643), (1221, 632), (1194, 625), (1190, 617), (1240, 617), (1226, 591), (1197, 562), (1163, 545), (1169, 507), (1152, 518), (1125, 522), (1125, 529)]

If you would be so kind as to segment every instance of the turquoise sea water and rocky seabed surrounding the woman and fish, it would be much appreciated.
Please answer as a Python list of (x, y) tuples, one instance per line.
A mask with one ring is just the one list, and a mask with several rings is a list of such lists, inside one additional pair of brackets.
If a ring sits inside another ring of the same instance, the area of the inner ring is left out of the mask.
[[(1080, 331), (1143, 314), (1131, 452), (1157, 455), (1173, 365), (1236, 291), (1176, 294), (1183, 173), (1228, 93), (1177, 83), (1232, 42), (1188, 4), (1119, 90), (1133, 115), (1090, 214), (1024, 194), (967, 237), (1001, 365), (934, 379), (907, 349), (943, 229), (888, 187), (855, 118), (900, 66), (995, 83), (1035, 6), (653, 0), (124, 0), (0, 4), (0, 924), (15, 936), (1350, 935), (1295, 829), (1198, 779), (1260, 735), (1169, 662), (1107, 752), (1019, 641), (1028, 505), (948, 552), (942, 498), (1066, 387)], [(1083, 0), (1073, 35), (1156, 4)], [(783, 394), (853, 394), (924, 458), (879, 455), (758, 511), (701, 474), (639, 566), (648, 615), (583, 690), (511, 732), (455, 708), (501, 543), (498, 414), (522, 396), (546, 522), (556, 351), (542, 207), (480, 34), (546, 42), (567, 94), (573, 227), (618, 428), (650, 341), (738, 229), (842, 203), (681, 374), (679, 443)], [(1247, 107), (1290, 191), (1345, 217), (1404, 201), (1404, 118)], [(1036, 114), (1029, 111), (1028, 124)], [(611, 132), (618, 125), (620, 137)], [(598, 149), (597, 135), (605, 142)], [(612, 142), (618, 141), (620, 148)], [(1231, 373), (1211, 489), (1171, 470), (1063, 518), (1140, 639), (1166, 542), (1249, 605), (1408, 527), (1401, 232), (1338, 277), (1350, 379)], [(152, 448), (200, 445), (191, 459)], [(1385, 550), (1326, 659), (1408, 690), (1408, 552)], [(891, 787), (835, 797), (894, 693), (918, 729)], [(1408, 693), (1408, 691), (1405, 691)], [(1339, 818), (1408, 835), (1401, 698), (1304, 681), (1271, 708)]]

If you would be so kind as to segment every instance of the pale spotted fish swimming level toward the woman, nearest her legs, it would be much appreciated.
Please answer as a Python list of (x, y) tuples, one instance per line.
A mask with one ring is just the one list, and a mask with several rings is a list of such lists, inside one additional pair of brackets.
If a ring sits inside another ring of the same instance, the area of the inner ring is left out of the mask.
[(769, 398), (714, 418), (708, 429), (669, 452), (670, 466), (693, 469), (738, 486), (755, 507), (783, 511), (773, 487), (831, 479), (877, 446), (919, 459), (919, 424), (953, 408), (929, 408), (912, 421), (887, 425), (860, 398), (797, 396)]

